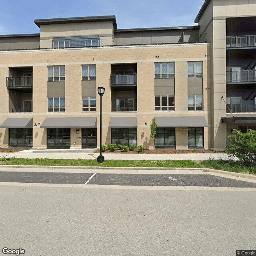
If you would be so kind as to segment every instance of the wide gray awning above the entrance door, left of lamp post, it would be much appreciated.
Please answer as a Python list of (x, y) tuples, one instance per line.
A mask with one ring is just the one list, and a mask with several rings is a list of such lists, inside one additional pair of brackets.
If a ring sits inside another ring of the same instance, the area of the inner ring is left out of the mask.
[(96, 117), (47, 117), (40, 125), (42, 128), (86, 128), (96, 126)]

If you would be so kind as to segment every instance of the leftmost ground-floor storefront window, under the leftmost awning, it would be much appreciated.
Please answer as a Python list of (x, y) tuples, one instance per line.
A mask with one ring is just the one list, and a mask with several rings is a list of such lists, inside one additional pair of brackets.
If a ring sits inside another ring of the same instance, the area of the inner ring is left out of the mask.
[(9, 128), (9, 145), (11, 147), (33, 146), (33, 129), (32, 128)]

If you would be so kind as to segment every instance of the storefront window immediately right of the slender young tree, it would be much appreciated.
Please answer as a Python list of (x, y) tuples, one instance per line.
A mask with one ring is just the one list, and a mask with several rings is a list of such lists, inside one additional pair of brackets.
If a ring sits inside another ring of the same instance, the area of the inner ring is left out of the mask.
[(175, 128), (156, 128), (156, 148), (175, 148)]

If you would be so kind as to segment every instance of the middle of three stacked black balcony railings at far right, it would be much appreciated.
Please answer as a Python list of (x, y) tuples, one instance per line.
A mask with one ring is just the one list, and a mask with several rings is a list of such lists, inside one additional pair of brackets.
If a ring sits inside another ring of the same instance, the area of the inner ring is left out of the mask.
[(256, 70), (227, 71), (227, 82), (256, 82)]

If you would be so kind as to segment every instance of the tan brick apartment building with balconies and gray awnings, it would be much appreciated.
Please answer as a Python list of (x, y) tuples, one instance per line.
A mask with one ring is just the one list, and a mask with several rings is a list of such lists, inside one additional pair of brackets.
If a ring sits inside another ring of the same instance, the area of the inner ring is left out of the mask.
[[(0, 36), (0, 146), (223, 150), (256, 130), (256, 3), (206, 0), (198, 26), (118, 29), (115, 16), (35, 20)], [(156, 140), (150, 130), (156, 120)]]

